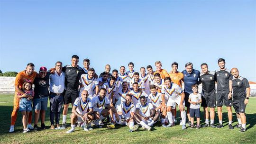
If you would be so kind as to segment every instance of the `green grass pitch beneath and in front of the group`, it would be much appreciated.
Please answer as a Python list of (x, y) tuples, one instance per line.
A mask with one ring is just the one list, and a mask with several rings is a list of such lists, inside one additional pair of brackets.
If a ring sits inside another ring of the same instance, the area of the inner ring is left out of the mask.
[[(93, 129), (92, 131), (83, 131), (82, 128), (76, 128), (71, 134), (66, 134), (65, 130), (51, 130), (49, 120), (49, 109), (46, 112), (46, 130), (29, 132), (23, 134), (21, 114), (18, 114), (16, 121), (15, 133), (9, 133), (10, 116), (13, 106), (13, 95), (0, 95), (0, 143), (1, 144), (66, 144), (66, 143), (82, 143), (82, 144), (256, 144), (256, 98), (249, 99), (247, 105), (247, 131), (245, 133), (238, 132), (238, 129), (229, 130), (227, 111), (224, 107), (223, 125), (221, 129), (217, 128), (201, 128), (182, 130), (181, 126), (163, 128), (155, 126), (152, 131), (144, 131), (139, 128), (138, 131), (129, 133), (128, 126), (117, 126), (117, 129), (108, 130), (106, 127)], [(48, 105), (49, 106), (49, 105)], [(71, 109), (69, 109), (71, 110)], [(179, 111), (178, 120), (179, 120)], [(71, 111), (69, 111), (68, 117)], [(217, 112), (216, 112), (217, 115)], [(203, 113), (201, 111), (201, 123)], [(34, 117), (34, 115), (33, 115)], [(62, 116), (61, 116), (62, 117)], [(238, 122), (233, 110), (233, 126)], [(61, 120), (62, 121), (62, 120)], [(70, 118), (67, 118), (70, 125)], [(217, 116), (215, 123), (218, 123)], [(33, 124), (32, 124), (33, 125)], [(40, 126), (40, 122), (38, 123)], [(68, 127), (70, 129), (70, 127)]]

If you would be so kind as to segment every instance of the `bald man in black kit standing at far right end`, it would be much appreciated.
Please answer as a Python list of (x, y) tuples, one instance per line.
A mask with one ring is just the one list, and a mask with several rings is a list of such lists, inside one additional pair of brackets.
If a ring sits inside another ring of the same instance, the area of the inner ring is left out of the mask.
[(239, 71), (237, 68), (231, 69), (232, 77), (232, 90), (233, 90), (233, 99), (232, 104), (237, 113), (238, 125), (237, 128), (240, 128), (240, 132), (246, 131), (246, 115), (245, 109), (246, 105), (249, 102), (250, 96), (250, 85), (246, 78), (239, 76)]

